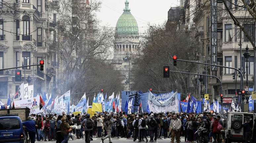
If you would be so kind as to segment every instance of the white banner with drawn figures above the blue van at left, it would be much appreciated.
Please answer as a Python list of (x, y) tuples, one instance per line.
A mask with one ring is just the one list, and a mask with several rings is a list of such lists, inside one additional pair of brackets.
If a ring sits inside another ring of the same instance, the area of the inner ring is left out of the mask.
[(40, 113), (40, 97), (34, 97), (30, 99), (23, 99), (14, 102), (15, 107), (29, 107), (30, 114)]

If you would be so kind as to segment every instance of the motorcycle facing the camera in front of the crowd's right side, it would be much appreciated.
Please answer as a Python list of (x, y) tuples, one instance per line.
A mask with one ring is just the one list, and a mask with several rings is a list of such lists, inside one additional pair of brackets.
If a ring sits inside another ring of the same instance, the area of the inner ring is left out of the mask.
[(208, 131), (201, 125), (194, 134), (197, 143), (208, 143)]

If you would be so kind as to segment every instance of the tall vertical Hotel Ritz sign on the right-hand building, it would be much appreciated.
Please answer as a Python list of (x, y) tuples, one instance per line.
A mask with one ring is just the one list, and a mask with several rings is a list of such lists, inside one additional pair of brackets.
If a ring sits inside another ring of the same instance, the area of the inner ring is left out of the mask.
[[(218, 34), (217, 34), (217, 0), (211, 0), (211, 64), (217, 64)], [(216, 66), (211, 66), (211, 71), (217, 71)]]

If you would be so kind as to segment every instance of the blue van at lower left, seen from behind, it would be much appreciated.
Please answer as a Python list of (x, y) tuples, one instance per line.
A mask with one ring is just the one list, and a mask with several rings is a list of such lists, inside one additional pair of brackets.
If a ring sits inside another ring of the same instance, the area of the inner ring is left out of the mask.
[(0, 142), (27, 143), (26, 133), (18, 114), (0, 115)]

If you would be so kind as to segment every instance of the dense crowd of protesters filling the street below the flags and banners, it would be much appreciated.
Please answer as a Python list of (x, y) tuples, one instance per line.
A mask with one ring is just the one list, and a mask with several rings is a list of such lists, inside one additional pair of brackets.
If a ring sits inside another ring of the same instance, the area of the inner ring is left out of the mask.
[[(120, 113), (98, 113), (66, 115), (64, 112), (57, 117), (57, 114), (42, 116), (32, 114), (29, 121), (23, 123), (27, 128), (34, 126), (34, 134), (37, 141), (56, 140), (56, 143), (67, 143), (69, 137), (76, 136), (77, 139), (84, 138), (85, 142), (99, 137), (104, 143), (108, 138), (132, 138), (138, 142), (156, 142), (160, 138), (171, 138), (174, 143), (180, 143), (180, 136), (185, 137), (185, 142), (194, 142), (194, 133), (199, 127), (207, 129), (209, 133), (208, 141), (220, 143), (219, 124), (223, 128), (226, 126), (227, 113), (141, 113), (126, 114)], [(29, 122), (29, 123), (28, 123)], [(245, 122), (243, 125), (247, 136), (251, 136), (252, 125)], [(248, 129), (247, 129), (248, 128)], [(32, 129), (31, 129), (32, 130)], [(248, 131), (247, 131), (248, 130)], [(31, 131), (30, 131), (31, 132)], [(30, 135), (30, 134), (29, 134)], [(33, 136), (33, 133), (31, 134)], [(31, 138), (31, 143), (33, 137)]]

